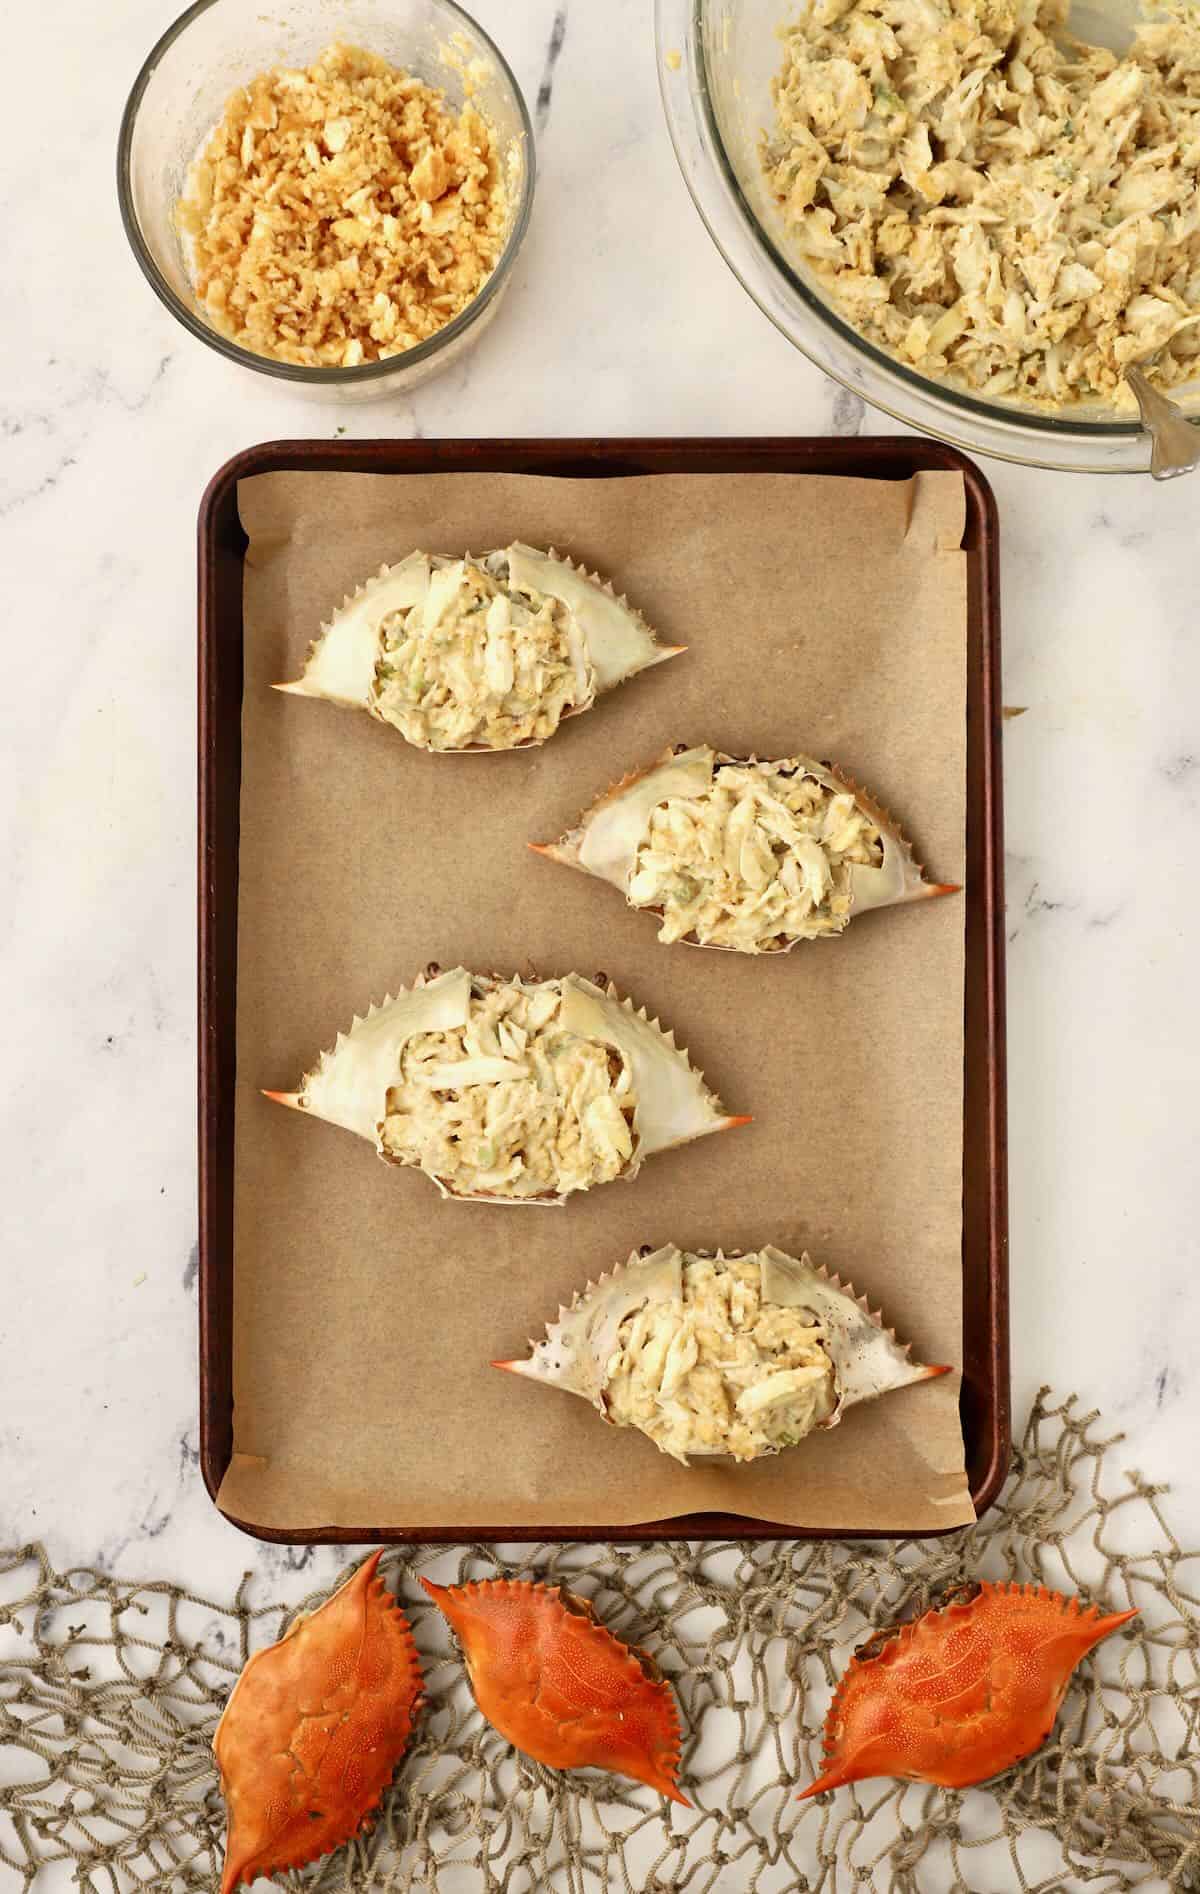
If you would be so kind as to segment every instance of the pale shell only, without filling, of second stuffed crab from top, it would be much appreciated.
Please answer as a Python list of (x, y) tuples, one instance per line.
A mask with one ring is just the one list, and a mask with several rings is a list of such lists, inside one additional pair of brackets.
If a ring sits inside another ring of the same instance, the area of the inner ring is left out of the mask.
[[(698, 744), (695, 750), (664, 750), (649, 769), (634, 771), (613, 784), (574, 830), (555, 843), (530, 843), (536, 854), (545, 854), (551, 862), (564, 862), (566, 867), (579, 867), (585, 875), (611, 881), (628, 900), (628, 886), (638, 866), (638, 849), (645, 841), (649, 820), (668, 797), (700, 797), (712, 786), (714, 771), (719, 763), (736, 763), (740, 769), (759, 767), (755, 756), (736, 758), (723, 750)], [(837, 795), (854, 795), (865, 816), (874, 822), (884, 845), (884, 860), (878, 867), (861, 862), (850, 866), (850, 919), (867, 913), (871, 907), (897, 907), (903, 902), (924, 902), (935, 894), (956, 894), (952, 883), (926, 881), (924, 867), (914, 860), (910, 845), (901, 835), (897, 824), (865, 790), (850, 777), (844, 777), (833, 763), (818, 763), (808, 756), (785, 756), (770, 769), (787, 767), (797, 775), (812, 777), (825, 790)], [(634, 905), (630, 902), (630, 905)], [(657, 907), (647, 913), (661, 913)], [(789, 953), (797, 939), (785, 939), (772, 953)], [(723, 941), (698, 941), (683, 936), (689, 947), (715, 947), (719, 953), (740, 953)]]

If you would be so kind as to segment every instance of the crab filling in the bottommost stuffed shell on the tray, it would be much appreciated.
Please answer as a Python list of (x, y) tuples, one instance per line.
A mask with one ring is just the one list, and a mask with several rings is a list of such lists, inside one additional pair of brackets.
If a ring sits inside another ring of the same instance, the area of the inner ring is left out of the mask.
[(676, 1460), (755, 1460), (793, 1447), (837, 1407), (825, 1330), (804, 1309), (763, 1303), (751, 1258), (683, 1261), (683, 1301), (628, 1316), (608, 1364), (609, 1420)]

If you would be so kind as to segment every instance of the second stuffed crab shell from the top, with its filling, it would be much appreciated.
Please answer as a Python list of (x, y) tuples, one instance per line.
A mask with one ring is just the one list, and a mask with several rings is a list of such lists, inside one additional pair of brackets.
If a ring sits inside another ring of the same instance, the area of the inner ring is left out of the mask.
[(954, 892), (926, 881), (891, 818), (831, 765), (708, 744), (668, 750), (534, 849), (657, 913), (661, 941), (734, 953), (785, 953), (869, 907)]

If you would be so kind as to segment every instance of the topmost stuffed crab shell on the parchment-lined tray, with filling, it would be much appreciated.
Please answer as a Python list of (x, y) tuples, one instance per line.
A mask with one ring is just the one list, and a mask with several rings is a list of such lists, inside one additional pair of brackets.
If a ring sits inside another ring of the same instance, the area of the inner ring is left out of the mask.
[(380, 566), (276, 689), (367, 710), (418, 750), (517, 750), (679, 650), (570, 559), (515, 542)]

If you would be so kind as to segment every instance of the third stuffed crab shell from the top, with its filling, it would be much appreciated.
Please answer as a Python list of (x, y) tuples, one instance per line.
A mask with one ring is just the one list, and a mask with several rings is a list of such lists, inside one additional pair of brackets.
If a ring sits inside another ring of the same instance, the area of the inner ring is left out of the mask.
[(371, 1138), (443, 1197), (564, 1203), (729, 1117), (657, 1021), (564, 979), (430, 970), (269, 1099)]

